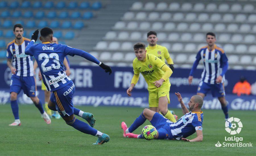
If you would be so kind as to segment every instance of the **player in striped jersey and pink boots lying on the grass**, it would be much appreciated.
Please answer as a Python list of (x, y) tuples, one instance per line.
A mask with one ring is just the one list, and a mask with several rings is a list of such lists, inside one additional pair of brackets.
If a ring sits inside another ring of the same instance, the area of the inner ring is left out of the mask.
[[(157, 135), (154, 139), (182, 139), (189, 142), (203, 141), (203, 112), (201, 111), (203, 98), (199, 95), (192, 96), (188, 103), (190, 110), (189, 112), (182, 101), (180, 93), (175, 94), (178, 97), (182, 112), (184, 114), (177, 122), (170, 122), (159, 113), (146, 108), (129, 128), (127, 128), (125, 122), (121, 123), (123, 136), (127, 138), (143, 138), (142, 134), (133, 134), (132, 132), (141, 126), (146, 119), (148, 119), (157, 130)], [(196, 138), (192, 140), (186, 139), (195, 132), (197, 133)]]

